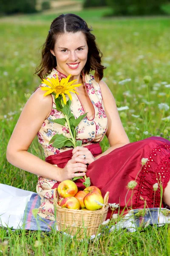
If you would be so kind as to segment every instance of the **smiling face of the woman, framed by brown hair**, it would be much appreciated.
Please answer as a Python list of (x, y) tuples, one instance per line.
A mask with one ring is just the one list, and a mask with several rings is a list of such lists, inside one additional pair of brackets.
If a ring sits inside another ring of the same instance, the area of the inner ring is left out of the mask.
[(51, 53), (56, 57), (57, 70), (65, 76), (79, 76), (86, 64), (88, 45), (83, 32), (66, 32), (57, 36), (54, 50)]

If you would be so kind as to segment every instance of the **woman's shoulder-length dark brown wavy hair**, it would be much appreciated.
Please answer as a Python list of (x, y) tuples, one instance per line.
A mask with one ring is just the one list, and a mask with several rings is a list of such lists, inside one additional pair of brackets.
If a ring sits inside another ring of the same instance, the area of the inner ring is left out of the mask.
[(45, 78), (52, 69), (57, 67), (56, 57), (52, 55), (50, 50), (54, 50), (57, 35), (65, 32), (76, 33), (82, 31), (88, 44), (88, 58), (83, 68), (85, 74), (89, 74), (91, 70), (95, 70), (94, 78), (100, 81), (103, 77), (103, 70), (106, 68), (101, 64), (102, 52), (99, 50), (95, 36), (91, 34), (92, 29), (88, 28), (87, 23), (81, 17), (75, 14), (62, 14), (55, 18), (51, 23), (48, 36), (42, 46), (42, 58), (40, 65), (36, 68), (36, 74), (40, 79)]

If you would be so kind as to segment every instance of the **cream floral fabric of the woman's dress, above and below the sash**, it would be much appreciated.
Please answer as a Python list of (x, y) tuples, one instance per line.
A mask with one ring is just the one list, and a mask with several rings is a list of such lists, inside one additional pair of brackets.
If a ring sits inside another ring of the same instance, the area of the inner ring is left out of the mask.
[[(46, 79), (56, 78), (58, 76), (59, 81), (62, 78), (66, 78), (65, 75), (58, 72), (56, 69), (53, 69), (51, 74), (47, 76)], [(86, 92), (89, 99), (94, 107), (94, 117), (93, 119), (88, 119), (86, 116), (77, 126), (77, 140), (82, 140), (82, 146), (91, 145), (93, 143), (99, 143), (108, 127), (108, 119), (105, 114), (104, 103), (102, 100), (102, 93), (99, 84), (95, 81), (94, 76), (91, 74), (84, 75), (82, 73), (83, 81), (85, 84)], [(46, 86), (41, 84), (39, 87)], [(55, 108), (55, 99), (54, 95), (52, 96), (53, 105), (51, 113), (47, 119), (44, 120), (40, 130), (37, 133), (38, 141), (44, 149), (45, 157), (50, 155), (59, 154), (61, 152), (73, 149), (73, 147), (63, 147), (63, 148), (54, 148), (52, 144), (49, 143), (51, 138), (55, 134), (63, 134), (66, 137), (71, 137), (68, 131), (68, 127), (59, 125), (52, 122), (53, 119), (63, 118), (63, 114), (60, 111), (57, 111)], [(75, 118), (85, 113), (82, 103), (79, 100), (79, 97), (76, 93), (71, 93), (71, 112), (74, 114)], [(68, 99), (68, 96), (66, 95)], [(57, 166), (57, 165), (55, 165)], [(56, 183), (56, 180), (50, 180), (45, 177), (38, 177), (37, 183), (37, 193), (41, 197), (41, 204), (39, 207), (38, 214), (42, 218), (48, 220), (54, 220), (54, 206), (53, 206), (53, 193), (54, 189), (52, 187)]]

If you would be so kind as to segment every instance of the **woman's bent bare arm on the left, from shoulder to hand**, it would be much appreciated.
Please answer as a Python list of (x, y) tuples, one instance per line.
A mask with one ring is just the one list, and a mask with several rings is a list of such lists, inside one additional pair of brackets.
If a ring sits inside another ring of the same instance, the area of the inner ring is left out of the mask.
[[(71, 179), (72, 174), (75, 177), (74, 172), (76, 172), (77, 167), (79, 167), (79, 170), (82, 168), (83, 175), (85, 175), (86, 170), (83, 168), (85, 166), (83, 163), (76, 164), (72, 161), (69, 163), (72, 165), (70, 169), (61, 169), (46, 163), (27, 151), (45, 118), (51, 112), (51, 95), (45, 97), (43, 95), (44, 91), (38, 88), (28, 99), (7, 146), (6, 157), (8, 162), (35, 175), (57, 181)], [(79, 166), (77, 166), (78, 164)], [(75, 170), (71, 173), (73, 165)]]

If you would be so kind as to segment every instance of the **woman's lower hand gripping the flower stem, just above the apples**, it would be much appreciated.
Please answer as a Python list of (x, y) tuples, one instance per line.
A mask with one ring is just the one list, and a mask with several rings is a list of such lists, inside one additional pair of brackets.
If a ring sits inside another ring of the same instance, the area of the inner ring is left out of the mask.
[(79, 162), (75, 158), (69, 160), (62, 169), (62, 179), (71, 180), (74, 177), (84, 176), (87, 172), (87, 160), (79, 158)]

